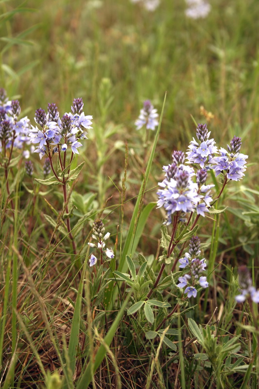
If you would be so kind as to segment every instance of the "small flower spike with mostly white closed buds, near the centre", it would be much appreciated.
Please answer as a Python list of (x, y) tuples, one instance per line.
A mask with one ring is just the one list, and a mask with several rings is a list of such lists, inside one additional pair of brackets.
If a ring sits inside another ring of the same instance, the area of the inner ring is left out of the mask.
[[(101, 219), (95, 220), (93, 224), (93, 234), (92, 238), (97, 241), (97, 243), (88, 243), (92, 248), (98, 248), (101, 256), (101, 264), (103, 264), (103, 255), (105, 254), (107, 258), (114, 258), (114, 252), (112, 248), (105, 248), (105, 241), (110, 237), (110, 232), (107, 232), (104, 235), (104, 223)], [(89, 259), (89, 266), (93, 266), (97, 263), (97, 257), (91, 254)]]

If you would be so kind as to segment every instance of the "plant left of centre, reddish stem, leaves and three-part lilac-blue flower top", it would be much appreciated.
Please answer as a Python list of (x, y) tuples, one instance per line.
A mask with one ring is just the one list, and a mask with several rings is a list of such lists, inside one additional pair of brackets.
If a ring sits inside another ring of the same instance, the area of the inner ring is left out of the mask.
[[(75, 154), (79, 154), (81, 141), (87, 139), (86, 130), (91, 127), (91, 115), (85, 115), (83, 111), (84, 103), (82, 98), (73, 100), (71, 112), (65, 113), (61, 118), (57, 106), (52, 103), (48, 105), (48, 111), (38, 108), (35, 111), (36, 126), (31, 127), (29, 137), (36, 145), (35, 153), (40, 159), (47, 157), (48, 162), (44, 162), (44, 176), (52, 170), (53, 176), (44, 180), (35, 180), (42, 185), (61, 185), (64, 199), (63, 219), (66, 219), (69, 238), (72, 243), (73, 253), (77, 254), (76, 244), (71, 232), (70, 217), (73, 209), (69, 210), (68, 183), (75, 180), (84, 162), (71, 170)], [(70, 194), (69, 194), (70, 195)]]

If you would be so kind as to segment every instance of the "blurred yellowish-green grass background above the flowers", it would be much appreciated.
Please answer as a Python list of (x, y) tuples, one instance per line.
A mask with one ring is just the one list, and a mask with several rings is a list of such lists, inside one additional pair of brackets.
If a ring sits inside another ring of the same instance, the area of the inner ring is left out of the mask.
[[(18, 73), (7, 77), (9, 94), (21, 94), (23, 105), (48, 102), (69, 109), (82, 96), (97, 117), (98, 87), (109, 77), (116, 98), (109, 119), (133, 130), (143, 99), (161, 107), (168, 92), (161, 143), (166, 153), (189, 139), (200, 106), (211, 111), (217, 141), (244, 136), (247, 150), (258, 145), (257, 1), (212, 1), (206, 19), (185, 17), (184, 1), (163, 0), (154, 13), (129, 0), (26, 1), (35, 12), (16, 14), (2, 24), (3, 35), (16, 36), (32, 26), (26, 39), (33, 46), (14, 46), (3, 55)], [(11, 9), (19, 1), (1, 4)], [(8, 22), (8, 23), (9, 23)], [(4, 45), (4, 42), (1, 43)]]

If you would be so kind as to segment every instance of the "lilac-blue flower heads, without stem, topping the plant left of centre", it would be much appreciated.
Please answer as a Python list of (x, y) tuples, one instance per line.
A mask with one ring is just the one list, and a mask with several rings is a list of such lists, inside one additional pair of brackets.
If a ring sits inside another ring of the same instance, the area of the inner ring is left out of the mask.
[(74, 99), (71, 112), (61, 119), (55, 104), (48, 105), (47, 113), (42, 108), (35, 111), (36, 126), (32, 126), (29, 135), (31, 142), (37, 144), (35, 153), (39, 153), (40, 159), (51, 151), (66, 152), (69, 147), (73, 154), (79, 154), (79, 140), (86, 139), (86, 129), (92, 128), (92, 116), (84, 114), (83, 106), (81, 98)]

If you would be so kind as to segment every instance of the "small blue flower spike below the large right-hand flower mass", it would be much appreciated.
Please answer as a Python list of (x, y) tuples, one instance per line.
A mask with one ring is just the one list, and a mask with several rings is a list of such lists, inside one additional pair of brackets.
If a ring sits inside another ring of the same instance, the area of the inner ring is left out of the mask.
[(206, 261), (205, 258), (200, 259), (200, 239), (197, 236), (192, 236), (190, 239), (189, 252), (185, 253), (185, 256), (179, 259), (179, 267), (188, 269), (189, 273), (185, 274), (178, 279), (178, 288), (186, 288), (184, 293), (187, 297), (197, 296), (197, 286), (203, 288), (208, 287), (206, 276), (201, 274), (205, 271)]

